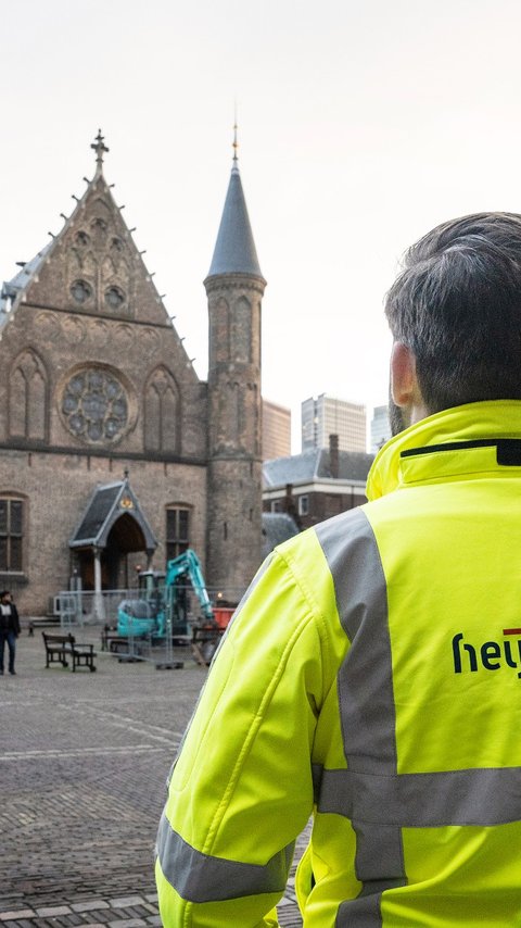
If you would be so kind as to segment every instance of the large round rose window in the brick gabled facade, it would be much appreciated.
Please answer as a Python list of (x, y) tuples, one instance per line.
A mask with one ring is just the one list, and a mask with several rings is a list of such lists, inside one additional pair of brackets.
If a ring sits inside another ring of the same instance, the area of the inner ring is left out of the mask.
[(75, 438), (94, 443), (115, 441), (128, 422), (125, 389), (105, 371), (80, 371), (65, 387), (62, 414)]

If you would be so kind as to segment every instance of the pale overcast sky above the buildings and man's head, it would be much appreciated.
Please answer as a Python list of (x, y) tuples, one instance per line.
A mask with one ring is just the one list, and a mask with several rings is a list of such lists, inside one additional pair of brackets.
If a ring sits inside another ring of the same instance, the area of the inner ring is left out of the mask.
[(437, 223), (521, 212), (518, 0), (0, 0), (0, 279), (56, 234), (101, 127), (127, 224), (200, 377), (240, 170), (263, 392), (386, 401), (383, 297)]

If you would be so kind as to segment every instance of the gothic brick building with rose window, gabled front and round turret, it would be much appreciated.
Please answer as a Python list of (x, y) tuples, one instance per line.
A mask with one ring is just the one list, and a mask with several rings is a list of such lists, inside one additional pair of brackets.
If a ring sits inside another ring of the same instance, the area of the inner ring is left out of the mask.
[(73, 575), (128, 586), (192, 547), (237, 601), (260, 562), (260, 304), (237, 149), (209, 273), (201, 381), (103, 174), (3, 285), (0, 585), (43, 614)]

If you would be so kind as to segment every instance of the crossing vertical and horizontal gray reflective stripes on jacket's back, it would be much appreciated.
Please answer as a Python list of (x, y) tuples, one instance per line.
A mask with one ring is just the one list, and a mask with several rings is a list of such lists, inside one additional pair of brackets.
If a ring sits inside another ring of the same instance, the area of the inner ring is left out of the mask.
[(316, 532), (352, 647), (338, 677), (347, 769), (315, 766), (315, 800), (320, 813), (350, 818), (356, 835), (355, 871), (363, 888), (339, 906), (336, 926), (378, 928), (381, 893), (407, 883), (402, 828), (519, 820), (521, 769), (397, 773), (386, 585), (372, 528), (356, 510)]

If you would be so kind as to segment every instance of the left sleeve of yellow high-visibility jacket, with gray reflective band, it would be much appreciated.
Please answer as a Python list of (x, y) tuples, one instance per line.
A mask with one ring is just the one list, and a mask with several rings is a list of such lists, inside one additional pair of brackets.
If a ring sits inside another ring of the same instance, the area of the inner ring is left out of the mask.
[(223, 639), (160, 825), (165, 928), (278, 924), (275, 905), (313, 810), (310, 753), (323, 694), (314, 599), (275, 553)]

